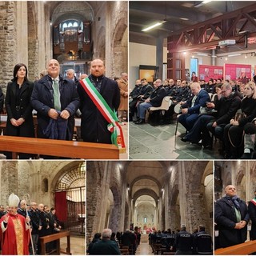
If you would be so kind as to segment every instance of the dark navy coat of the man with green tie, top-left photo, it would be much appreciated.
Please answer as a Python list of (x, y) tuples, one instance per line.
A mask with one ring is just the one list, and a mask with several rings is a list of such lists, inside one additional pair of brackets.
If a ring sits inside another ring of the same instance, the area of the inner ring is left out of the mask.
[[(59, 76), (59, 90), (62, 110), (70, 113), (67, 124), (66, 140), (72, 140), (74, 133), (74, 114), (79, 107), (79, 98), (74, 82)], [(31, 105), (38, 111), (38, 138), (46, 138), (43, 130), (46, 130), (50, 122), (48, 111), (54, 109), (54, 90), (50, 76), (46, 75), (34, 84), (31, 96)]]

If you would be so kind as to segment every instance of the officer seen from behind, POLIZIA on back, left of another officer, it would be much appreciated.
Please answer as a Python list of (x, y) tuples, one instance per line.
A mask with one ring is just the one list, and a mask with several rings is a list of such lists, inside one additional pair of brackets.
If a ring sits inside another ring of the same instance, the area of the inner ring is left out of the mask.
[(170, 250), (176, 248), (175, 255), (191, 255), (193, 247), (193, 236), (186, 231), (186, 226), (182, 224), (181, 231), (176, 235), (174, 246), (170, 246)]

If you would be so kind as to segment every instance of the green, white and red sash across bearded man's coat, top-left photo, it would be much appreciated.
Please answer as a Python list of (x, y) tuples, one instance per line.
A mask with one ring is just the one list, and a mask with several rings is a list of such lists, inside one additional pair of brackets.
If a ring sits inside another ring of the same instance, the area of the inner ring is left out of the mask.
[(97, 106), (102, 116), (109, 122), (107, 129), (111, 132), (112, 144), (118, 146), (120, 151), (126, 152), (126, 145), (122, 134), (122, 127), (119, 124), (117, 114), (110, 109), (110, 106), (106, 103), (106, 100), (90, 82), (89, 78), (84, 78), (81, 81), (82, 88), (86, 90), (90, 99)]

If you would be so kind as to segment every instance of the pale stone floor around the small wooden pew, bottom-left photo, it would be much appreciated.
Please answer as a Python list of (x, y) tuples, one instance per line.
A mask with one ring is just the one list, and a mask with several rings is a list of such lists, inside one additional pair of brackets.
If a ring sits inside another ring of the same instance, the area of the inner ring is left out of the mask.
[[(61, 238), (61, 250), (66, 250), (66, 238)], [(85, 255), (86, 239), (84, 237), (70, 237), (70, 249), (72, 255)], [(64, 255), (64, 254), (63, 254)]]

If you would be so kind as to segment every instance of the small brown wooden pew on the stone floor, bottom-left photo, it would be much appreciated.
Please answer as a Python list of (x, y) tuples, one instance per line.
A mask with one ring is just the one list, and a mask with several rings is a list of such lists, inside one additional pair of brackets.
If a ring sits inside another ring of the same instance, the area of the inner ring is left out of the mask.
[[(66, 251), (62, 251), (60, 249), (60, 241), (59, 239), (60, 238), (64, 238), (66, 237)], [(47, 242), (52, 242), (52, 241), (55, 241), (57, 240), (57, 243), (56, 243), (56, 252), (57, 252), (57, 255), (60, 255), (61, 253), (62, 254), (69, 254), (69, 255), (72, 255), (70, 253), (70, 231), (61, 231), (57, 234), (49, 234), (49, 235), (46, 235), (44, 237), (41, 237), (39, 238), (40, 240), (40, 243), (41, 243), (41, 250), (42, 250), (42, 255), (46, 255), (46, 243)]]

